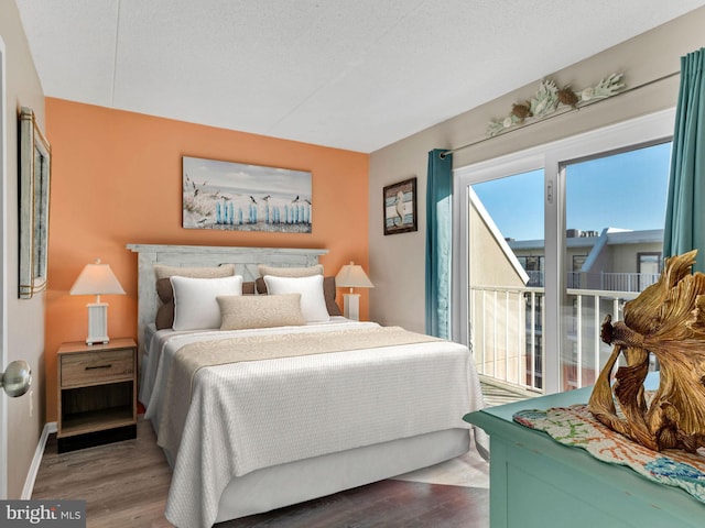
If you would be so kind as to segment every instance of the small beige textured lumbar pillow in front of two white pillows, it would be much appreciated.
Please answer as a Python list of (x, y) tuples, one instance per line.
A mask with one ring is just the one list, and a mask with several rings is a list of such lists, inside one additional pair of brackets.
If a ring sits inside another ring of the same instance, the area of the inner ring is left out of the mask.
[(301, 294), (242, 297), (218, 296), (220, 330), (270, 328), (305, 324), (301, 312)]

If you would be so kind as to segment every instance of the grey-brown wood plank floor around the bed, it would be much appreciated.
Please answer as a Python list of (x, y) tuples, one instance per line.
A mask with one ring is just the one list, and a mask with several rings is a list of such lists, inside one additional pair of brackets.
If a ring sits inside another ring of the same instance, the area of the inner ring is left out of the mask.
[[(510, 397), (492, 391), (494, 397)], [(170, 480), (152, 427), (140, 420), (135, 440), (69, 453), (57, 453), (52, 435), (32, 498), (85, 499), (88, 528), (169, 528), (163, 512)], [(488, 490), (389, 480), (215, 526), (486, 528)]]

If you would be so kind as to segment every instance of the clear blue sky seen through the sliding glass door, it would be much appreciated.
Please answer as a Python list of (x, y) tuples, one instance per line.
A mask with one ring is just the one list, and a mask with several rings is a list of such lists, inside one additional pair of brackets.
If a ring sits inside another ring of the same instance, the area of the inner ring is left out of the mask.
[[(568, 166), (566, 228), (663, 229), (671, 143)], [(543, 239), (543, 170), (473, 186), (502, 235)]]

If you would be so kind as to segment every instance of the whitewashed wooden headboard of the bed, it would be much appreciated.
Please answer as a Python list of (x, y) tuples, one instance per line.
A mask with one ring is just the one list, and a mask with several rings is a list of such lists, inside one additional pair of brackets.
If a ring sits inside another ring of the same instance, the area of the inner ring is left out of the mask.
[(235, 273), (245, 280), (259, 277), (258, 264), (270, 266), (313, 266), (328, 250), (299, 250), (280, 248), (235, 248), (212, 245), (148, 245), (128, 244), (138, 253), (138, 342), (144, 339), (144, 328), (154, 322), (159, 297), (154, 264), (170, 266), (218, 266), (235, 264)]

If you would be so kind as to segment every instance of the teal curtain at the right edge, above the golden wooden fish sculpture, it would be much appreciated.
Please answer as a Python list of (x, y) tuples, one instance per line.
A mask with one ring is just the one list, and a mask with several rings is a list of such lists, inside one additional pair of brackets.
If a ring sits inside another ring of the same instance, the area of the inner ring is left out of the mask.
[(698, 250), (693, 271), (705, 272), (705, 48), (681, 57), (663, 255)]

